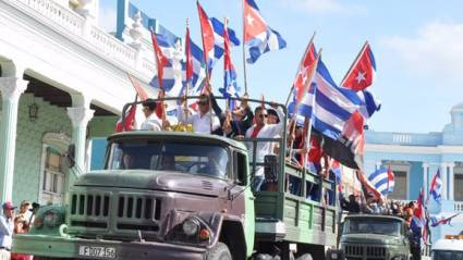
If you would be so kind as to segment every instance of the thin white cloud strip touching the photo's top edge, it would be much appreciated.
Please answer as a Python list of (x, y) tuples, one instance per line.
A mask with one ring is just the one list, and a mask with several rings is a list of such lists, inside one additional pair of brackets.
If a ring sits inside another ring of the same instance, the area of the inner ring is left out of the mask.
[(360, 5), (348, 5), (339, 0), (280, 0), (280, 3), (309, 14), (358, 14), (365, 12), (365, 9)]

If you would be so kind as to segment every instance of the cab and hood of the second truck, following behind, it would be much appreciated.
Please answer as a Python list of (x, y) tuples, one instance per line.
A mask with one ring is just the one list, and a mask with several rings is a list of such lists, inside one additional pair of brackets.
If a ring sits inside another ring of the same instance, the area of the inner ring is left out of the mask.
[(329, 255), (330, 259), (409, 260), (409, 228), (397, 216), (348, 215), (342, 223), (339, 250)]

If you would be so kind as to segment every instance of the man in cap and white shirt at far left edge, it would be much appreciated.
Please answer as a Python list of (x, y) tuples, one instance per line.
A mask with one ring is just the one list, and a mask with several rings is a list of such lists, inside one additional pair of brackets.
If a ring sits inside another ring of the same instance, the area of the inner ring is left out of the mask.
[(14, 231), (14, 209), (10, 201), (2, 206), (3, 214), (0, 215), (0, 260), (10, 260), (11, 240)]

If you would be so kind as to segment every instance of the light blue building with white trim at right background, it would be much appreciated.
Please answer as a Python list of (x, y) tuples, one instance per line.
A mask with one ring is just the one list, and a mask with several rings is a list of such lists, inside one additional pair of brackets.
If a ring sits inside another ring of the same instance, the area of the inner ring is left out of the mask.
[[(390, 166), (395, 174), (391, 199), (416, 200), (419, 190), (429, 195), (429, 185), (437, 171), (442, 179), (442, 201), (429, 199), (431, 214), (450, 216), (463, 213), (463, 103), (450, 110), (451, 122), (442, 132), (428, 134), (366, 132), (365, 171)], [(463, 231), (463, 215), (452, 226), (431, 228), (432, 240), (444, 234)]]

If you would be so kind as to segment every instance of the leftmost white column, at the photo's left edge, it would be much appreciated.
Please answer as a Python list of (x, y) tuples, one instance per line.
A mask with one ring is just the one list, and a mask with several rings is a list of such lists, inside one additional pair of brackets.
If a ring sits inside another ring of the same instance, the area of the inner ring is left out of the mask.
[(17, 107), (27, 81), (19, 77), (0, 77), (2, 119), (0, 124), (0, 201), (11, 201), (13, 196), (14, 154), (16, 149)]

